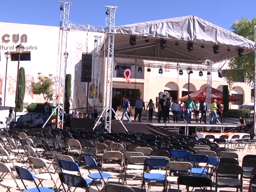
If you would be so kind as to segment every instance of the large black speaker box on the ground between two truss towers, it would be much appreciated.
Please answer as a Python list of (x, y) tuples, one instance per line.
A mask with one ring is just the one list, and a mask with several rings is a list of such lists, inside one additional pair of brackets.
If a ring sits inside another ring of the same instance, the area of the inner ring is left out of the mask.
[(71, 118), (71, 129), (92, 130), (94, 121), (94, 118)]

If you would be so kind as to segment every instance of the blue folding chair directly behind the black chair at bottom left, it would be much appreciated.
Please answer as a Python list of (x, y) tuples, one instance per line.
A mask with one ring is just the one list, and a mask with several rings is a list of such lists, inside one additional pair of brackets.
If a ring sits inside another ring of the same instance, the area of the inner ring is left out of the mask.
[[(60, 169), (62, 172), (64, 170), (66, 170), (68, 172), (73, 172), (82, 177), (79, 165), (76, 162), (59, 159), (58, 163), (59, 163), (59, 166), (60, 166)], [(73, 174), (73, 175), (75, 175), (75, 174)], [(85, 181), (87, 184), (92, 183), (92, 180), (90, 180), (90, 179), (85, 179)]]

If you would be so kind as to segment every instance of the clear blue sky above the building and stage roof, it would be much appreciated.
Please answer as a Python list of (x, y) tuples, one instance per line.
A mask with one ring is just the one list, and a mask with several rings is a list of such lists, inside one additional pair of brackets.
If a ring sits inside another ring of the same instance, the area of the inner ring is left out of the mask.
[[(255, 0), (71, 0), (73, 23), (105, 26), (105, 5), (117, 6), (116, 25), (195, 15), (230, 30), (242, 17), (256, 16)], [(1, 0), (0, 21), (58, 26), (59, 0)], [(3, 30), (3, 29), (1, 29)]]

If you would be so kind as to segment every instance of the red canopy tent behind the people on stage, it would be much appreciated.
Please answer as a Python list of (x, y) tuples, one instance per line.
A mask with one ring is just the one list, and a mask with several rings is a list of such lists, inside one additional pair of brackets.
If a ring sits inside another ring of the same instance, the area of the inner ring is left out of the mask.
[[(206, 93), (207, 93), (207, 88), (204, 87), (202, 89), (199, 89), (198, 91), (190, 93), (189, 96), (191, 97), (191, 100), (193, 101), (199, 100), (199, 102), (201, 102), (204, 99), (206, 99)], [(212, 88), (212, 102), (213, 100), (217, 99), (217, 101), (220, 101), (220, 103), (222, 103), (222, 98), (223, 98), (223, 92)], [(187, 99), (188, 99), (188, 95), (181, 97), (180, 101), (186, 101)], [(234, 101), (239, 101), (239, 99), (229, 95), (229, 101), (234, 102)]]

